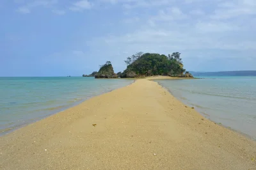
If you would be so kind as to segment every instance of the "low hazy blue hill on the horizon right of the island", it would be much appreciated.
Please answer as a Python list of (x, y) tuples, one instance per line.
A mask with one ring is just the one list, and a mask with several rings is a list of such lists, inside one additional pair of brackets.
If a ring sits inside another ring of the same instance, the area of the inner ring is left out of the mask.
[(256, 76), (256, 70), (229, 72), (190, 72), (194, 76)]

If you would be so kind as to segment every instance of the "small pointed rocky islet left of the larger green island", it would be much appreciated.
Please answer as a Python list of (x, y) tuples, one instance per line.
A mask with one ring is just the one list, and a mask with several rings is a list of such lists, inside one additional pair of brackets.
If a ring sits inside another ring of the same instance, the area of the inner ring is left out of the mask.
[(99, 72), (97, 73), (97, 75), (95, 75), (95, 79), (109, 79), (117, 77), (118, 75), (114, 72), (114, 68), (111, 65), (110, 61), (107, 61), (105, 65), (101, 65)]

